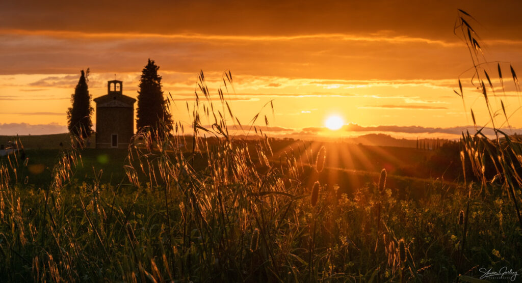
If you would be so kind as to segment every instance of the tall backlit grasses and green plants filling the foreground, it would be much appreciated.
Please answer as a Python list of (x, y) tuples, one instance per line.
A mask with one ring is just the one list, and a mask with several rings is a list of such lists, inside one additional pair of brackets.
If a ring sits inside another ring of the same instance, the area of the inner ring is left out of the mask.
[[(522, 235), (514, 208), (494, 186), (447, 193), (447, 186), (434, 183), (425, 198), (417, 198), (407, 192), (400, 197), (382, 181), (339, 198), (336, 186), (300, 182), (311, 174), (293, 156), (279, 165), (253, 161), (242, 141), (221, 141), (201, 149), (211, 153), (201, 170), (192, 169), (192, 155), (168, 153), (178, 141), (138, 143), (126, 167), (134, 184), (111, 186), (100, 181), (105, 171), (98, 170), (94, 178), (77, 173), (81, 181), (67, 181), (75, 163), (80, 166), (75, 150), (60, 155), (41, 189), (25, 186), (21, 176), (8, 181), (3, 167), (1, 277), (399, 281), (402, 276), (435, 282), (470, 269), (476, 274), (476, 265), (520, 266)], [(267, 145), (259, 139), (255, 154), (262, 156)], [(467, 244), (458, 264), (459, 214), (468, 202)]]

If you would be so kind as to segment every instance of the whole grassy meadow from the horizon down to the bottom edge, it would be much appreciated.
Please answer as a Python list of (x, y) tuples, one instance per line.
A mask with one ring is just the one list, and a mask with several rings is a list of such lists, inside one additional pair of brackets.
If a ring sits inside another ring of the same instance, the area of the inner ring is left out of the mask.
[(284, 143), (256, 126), (269, 127), (263, 112), (241, 126), (218, 95), (201, 72), (189, 136), (176, 122), (126, 151), (70, 136), (4, 157), (2, 281), (482, 282), (489, 269), (511, 273), (483, 279), (521, 280), (522, 141), (468, 133), (440, 151), (462, 175), (445, 180), (456, 169), (442, 162), (420, 178), (416, 164), (437, 153)]

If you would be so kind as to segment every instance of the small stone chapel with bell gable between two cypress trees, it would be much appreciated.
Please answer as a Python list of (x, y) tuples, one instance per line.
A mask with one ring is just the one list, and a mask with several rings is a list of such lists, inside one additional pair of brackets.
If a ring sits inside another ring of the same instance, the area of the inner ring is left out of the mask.
[(134, 134), (135, 99), (123, 95), (122, 81), (108, 81), (107, 94), (96, 102), (96, 148), (126, 149)]

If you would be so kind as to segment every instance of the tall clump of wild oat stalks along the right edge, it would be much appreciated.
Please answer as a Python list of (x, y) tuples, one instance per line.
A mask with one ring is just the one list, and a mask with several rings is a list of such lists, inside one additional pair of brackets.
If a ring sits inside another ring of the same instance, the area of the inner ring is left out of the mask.
[[(482, 52), (484, 43), (482, 43), (478, 33), (470, 24), (470, 22), (474, 21), (475, 19), (466, 13), (466, 11), (459, 9), (454, 32), (466, 43), (468, 48), (472, 67), (464, 73), (471, 71), (470, 85), (473, 89), (478, 90), (483, 97), (485, 108), (489, 114), (489, 120), (484, 126), (479, 128), (473, 110), (471, 109), (471, 117), (477, 131), (473, 135), (469, 132), (466, 134), (462, 133), (461, 141), (462, 144), (464, 144), (464, 152), (468, 155), (471, 162), (473, 173), (481, 180), (482, 186), (486, 186), (488, 181), (488, 176), (485, 174), (486, 168), (492, 167), (497, 176), (504, 177), (503, 188), (511, 195), (519, 226), (522, 228), (522, 215), (520, 214), (518, 204), (520, 196), (519, 192), (516, 192), (522, 187), (522, 177), (519, 169), (517, 169), (522, 167), (522, 142), (516, 137), (510, 136), (502, 129), (506, 124), (509, 126), (509, 117), (513, 116), (519, 108), (515, 109), (511, 114), (507, 113), (504, 101), (497, 96), (497, 93), (501, 92), (504, 94), (503, 96), (506, 97), (505, 83), (507, 78), (503, 77), (502, 69), (507, 68), (508, 65), (517, 97), (520, 97), (520, 85), (516, 72), (511, 64), (502, 61), (488, 61), (485, 58)], [(497, 74), (493, 75), (495, 71)], [(464, 73), (462, 73), (462, 75), (464, 75)], [(498, 79), (496, 80), (495, 78)], [(500, 82), (500, 86), (497, 82)], [(454, 92), (462, 98), (462, 103), (464, 107), (466, 107), (464, 103), (465, 88), (460, 78), (458, 85), (459, 91), (455, 90)], [(501, 107), (495, 109), (492, 104), (492, 99), (500, 100)], [(493, 129), (495, 136), (493, 140), (490, 140), (482, 132), (488, 125)], [(461, 159), (464, 161), (464, 158), (461, 157)], [(489, 164), (490, 161), (492, 164)]]

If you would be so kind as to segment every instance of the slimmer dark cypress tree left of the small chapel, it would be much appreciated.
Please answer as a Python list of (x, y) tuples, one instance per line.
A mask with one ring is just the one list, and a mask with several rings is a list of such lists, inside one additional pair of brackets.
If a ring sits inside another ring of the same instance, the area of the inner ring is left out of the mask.
[(69, 131), (82, 138), (87, 138), (92, 133), (91, 115), (94, 108), (91, 107), (91, 95), (89, 95), (87, 87), (88, 76), (89, 69), (87, 69), (87, 75), (84, 70), (81, 70), (80, 80), (74, 94), (70, 97), (73, 107), (67, 110)]

